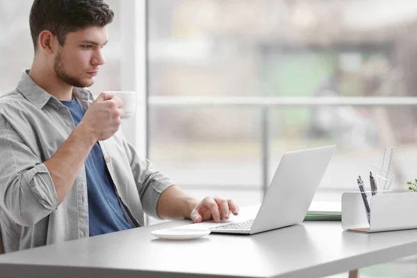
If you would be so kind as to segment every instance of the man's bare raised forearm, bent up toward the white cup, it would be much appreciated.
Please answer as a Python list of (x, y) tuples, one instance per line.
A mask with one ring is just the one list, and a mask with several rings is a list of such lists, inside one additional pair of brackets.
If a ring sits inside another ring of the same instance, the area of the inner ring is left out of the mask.
[(72, 184), (94, 145), (95, 140), (88, 136), (88, 133), (85, 133), (83, 127), (79, 125), (54, 156), (44, 161), (54, 181), (58, 204), (61, 204), (70, 193)]

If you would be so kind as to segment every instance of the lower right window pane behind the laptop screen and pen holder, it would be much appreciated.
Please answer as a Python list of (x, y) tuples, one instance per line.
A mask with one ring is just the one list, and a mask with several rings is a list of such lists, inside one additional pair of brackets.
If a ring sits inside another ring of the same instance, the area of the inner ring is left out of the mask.
[(369, 189), (370, 165), (382, 167), (384, 149), (390, 146), (394, 147), (390, 172), (395, 174), (391, 189), (407, 190), (406, 182), (416, 179), (414, 113), (414, 108), (402, 107), (272, 108), (269, 181), (284, 152), (335, 144), (315, 199), (340, 201), (343, 192), (357, 190), (359, 174)]

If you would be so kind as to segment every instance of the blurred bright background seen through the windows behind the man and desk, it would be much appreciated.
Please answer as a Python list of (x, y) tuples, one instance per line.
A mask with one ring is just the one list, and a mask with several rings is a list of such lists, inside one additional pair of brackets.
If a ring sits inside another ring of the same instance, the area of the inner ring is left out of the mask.
[[(95, 93), (122, 88), (131, 31), (121, 1), (106, 2), (115, 21)], [(4, 94), (31, 66), (32, 1), (0, 3)], [(196, 197), (245, 206), (261, 202), (284, 152), (336, 144), (315, 200), (340, 202), (393, 147), (391, 188), (407, 190), (417, 178), (416, 31), (417, 1), (147, 1), (147, 157)], [(329, 97), (336, 104), (320, 102)], [(415, 277), (416, 266), (361, 275)]]

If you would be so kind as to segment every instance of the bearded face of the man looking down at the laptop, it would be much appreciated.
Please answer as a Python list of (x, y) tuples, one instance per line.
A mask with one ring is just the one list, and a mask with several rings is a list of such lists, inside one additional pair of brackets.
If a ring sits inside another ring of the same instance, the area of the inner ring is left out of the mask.
[(106, 60), (102, 48), (107, 43), (107, 27), (88, 27), (68, 33), (54, 60), (56, 77), (74, 87), (90, 87)]

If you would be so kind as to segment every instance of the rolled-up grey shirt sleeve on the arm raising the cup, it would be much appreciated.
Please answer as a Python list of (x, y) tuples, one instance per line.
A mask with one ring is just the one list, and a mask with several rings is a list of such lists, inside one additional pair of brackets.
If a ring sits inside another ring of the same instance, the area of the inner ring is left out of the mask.
[(11, 220), (28, 227), (58, 207), (47, 167), (1, 118), (0, 206)]

